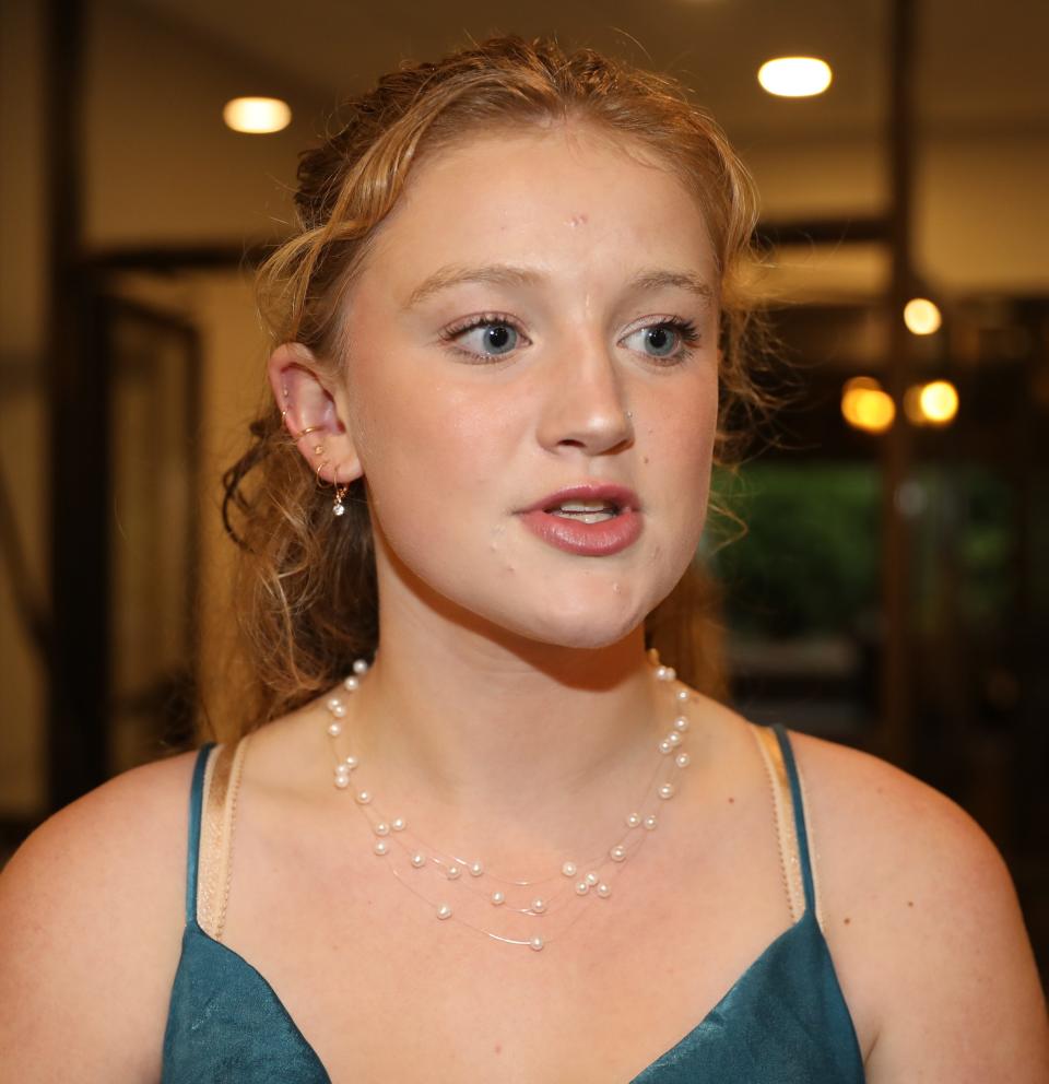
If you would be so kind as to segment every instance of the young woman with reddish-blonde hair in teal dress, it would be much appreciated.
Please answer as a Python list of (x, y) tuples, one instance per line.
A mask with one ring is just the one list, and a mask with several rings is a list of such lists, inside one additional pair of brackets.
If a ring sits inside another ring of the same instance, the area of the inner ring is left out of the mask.
[(0, 1076), (1045, 1081), (973, 821), (646, 652), (754, 401), (714, 123), (495, 39), (300, 180), (228, 479), (257, 703), (12, 860)]

